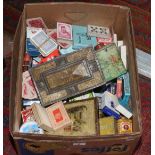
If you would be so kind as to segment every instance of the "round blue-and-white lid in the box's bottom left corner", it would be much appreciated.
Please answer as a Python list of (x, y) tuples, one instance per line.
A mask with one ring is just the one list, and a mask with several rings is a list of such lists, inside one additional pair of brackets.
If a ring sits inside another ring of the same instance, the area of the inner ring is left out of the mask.
[(38, 124), (34, 121), (29, 121), (20, 127), (20, 132), (22, 133), (34, 133), (34, 134), (43, 134), (43, 129), (39, 128)]

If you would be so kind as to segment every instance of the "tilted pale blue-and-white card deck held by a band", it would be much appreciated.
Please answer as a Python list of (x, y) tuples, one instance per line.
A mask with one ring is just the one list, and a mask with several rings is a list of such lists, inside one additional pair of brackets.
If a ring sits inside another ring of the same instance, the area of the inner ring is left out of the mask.
[(44, 57), (48, 56), (57, 48), (55, 41), (49, 38), (43, 30), (35, 33), (30, 40), (37, 48), (39, 48), (40, 53)]

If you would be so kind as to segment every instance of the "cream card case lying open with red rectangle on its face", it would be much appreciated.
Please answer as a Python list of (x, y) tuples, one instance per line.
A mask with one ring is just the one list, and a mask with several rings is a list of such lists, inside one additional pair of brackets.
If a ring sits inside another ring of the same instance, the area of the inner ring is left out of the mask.
[(55, 103), (48, 108), (40, 104), (32, 104), (31, 107), (36, 122), (46, 131), (55, 131), (72, 124), (62, 102)]

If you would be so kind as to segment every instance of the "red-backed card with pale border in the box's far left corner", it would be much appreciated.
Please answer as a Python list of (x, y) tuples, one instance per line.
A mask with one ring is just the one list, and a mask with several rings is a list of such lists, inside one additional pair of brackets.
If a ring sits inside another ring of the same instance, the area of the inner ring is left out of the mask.
[(45, 23), (41, 17), (27, 19), (26, 24), (29, 27), (47, 29), (47, 26), (45, 25)]

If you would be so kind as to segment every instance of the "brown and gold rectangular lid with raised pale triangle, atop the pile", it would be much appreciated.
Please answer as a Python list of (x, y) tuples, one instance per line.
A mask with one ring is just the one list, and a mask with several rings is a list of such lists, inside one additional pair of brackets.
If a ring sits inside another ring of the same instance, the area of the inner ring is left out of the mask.
[(84, 93), (105, 82), (92, 48), (60, 56), (29, 71), (43, 106)]

